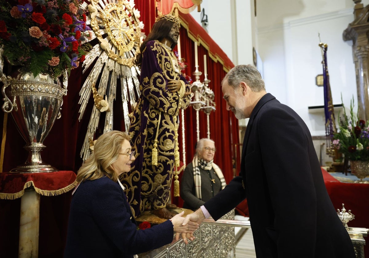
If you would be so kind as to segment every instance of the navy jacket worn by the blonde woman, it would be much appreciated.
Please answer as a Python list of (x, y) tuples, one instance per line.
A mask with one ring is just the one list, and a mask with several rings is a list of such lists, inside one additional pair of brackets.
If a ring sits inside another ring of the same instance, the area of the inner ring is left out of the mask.
[(73, 195), (64, 257), (132, 258), (172, 240), (169, 220), (137, 230), (123, 189), (103, 177), (82, 182)]

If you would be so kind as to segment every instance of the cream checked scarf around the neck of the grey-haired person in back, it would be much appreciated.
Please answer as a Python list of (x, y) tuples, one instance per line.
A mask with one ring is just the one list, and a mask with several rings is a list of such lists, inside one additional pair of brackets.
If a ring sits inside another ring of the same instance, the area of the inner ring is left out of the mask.
[(213, 160), (210, 162), (206, 162), (202, 158), (198, 158), (197, 154), (193, 157), (192, 160), (192, 167), (193, 167), (193, 181), (195, 182), (195, 193), (196, 197), (201, 200), (201, 175), (200, 175), (200, 168), (203, 170), (211, 170), (211, 168), (214, 169), (215, 174), (217, 174), (217, 177), (220, 179), (221, 188), (224, 189), (226, 183), (224, 179), (224, 175), (218, 165), (216, 165)]

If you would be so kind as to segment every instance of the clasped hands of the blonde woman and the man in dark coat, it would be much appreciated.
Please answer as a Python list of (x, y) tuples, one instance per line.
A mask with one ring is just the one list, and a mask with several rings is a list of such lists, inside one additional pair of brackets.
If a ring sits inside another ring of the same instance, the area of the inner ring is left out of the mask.
[(170, 221), (173, 223), (173, 230), (176, 232), (176, 240), (179, 239), (179, 236), (182, 236), (183, 242), (188, 244), (188, 240), (193, 241), (195, 239), (193, 232), (199, 228), (205, 216), (201, 209), (186, 217), (182, 217), (183, 213), (184, 211), (172, 217)]

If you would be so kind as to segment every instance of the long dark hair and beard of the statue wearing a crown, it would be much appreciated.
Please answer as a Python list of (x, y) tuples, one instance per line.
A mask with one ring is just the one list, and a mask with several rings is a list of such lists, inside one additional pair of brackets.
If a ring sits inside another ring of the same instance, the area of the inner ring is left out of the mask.
[[(142, 63), (142, 52), (144, 51), (146, 47), (146, 43), (152, 40), (158, 40), (161, 41), (163, 38), (167, 37), (169, 35), (170, 30), (173, 27), (174, 22), (173, 21), (167, 21), (167, 20), (160, 20), (154, 23), (152, 25), (151, 32), (146, 37), (144, 42), (142, 42), (140, 48), (139, 48), (139, 54), (137, 54), (137, 59), (135, 60), (135, 64), (138, 66), (141, 66)], [(171, 48), (176, 46), (176, 43), (173, 43)]]

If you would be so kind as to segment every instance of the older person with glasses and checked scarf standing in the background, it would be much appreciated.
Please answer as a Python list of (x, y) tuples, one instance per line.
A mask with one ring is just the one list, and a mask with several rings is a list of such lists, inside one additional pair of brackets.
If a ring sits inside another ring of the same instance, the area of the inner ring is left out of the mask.
[(180, 181), (183, 208), (196, 210), (225, 187), (223, 173), (213, 162), (214, 154), (213, 140), (203, 138), (197, 142), (196, 154), (184, 169)]

